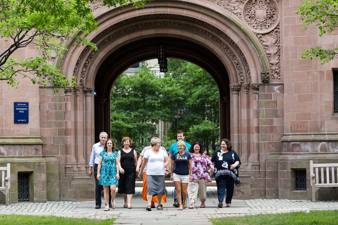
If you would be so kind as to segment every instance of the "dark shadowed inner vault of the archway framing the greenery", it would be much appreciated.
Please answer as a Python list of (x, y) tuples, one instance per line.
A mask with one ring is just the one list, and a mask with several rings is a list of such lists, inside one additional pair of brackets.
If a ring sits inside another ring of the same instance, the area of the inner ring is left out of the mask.
[[(168, 58), (183, 59), (199, 65), (215, 80), (220, 97), (223, 100), (230, 99), (230, 82), (226, 69), (209, 50), (200, 48), (196, 51), (194, 43), (180, 40), (179, 38), (146, 38), (138, 43), (129, 43), (118, 48), (105, 59), (98, 69), (95, 79), (97, 95), (94, 97), (95, 138), (99, 136), (100, 131), (110, 132), (110, 92), (116, 79), (131, 65), (141, 60), (144, 61), (156, 57), (157, 44), (160, 41), (166, 45)], [(226, 118), (220, 122), (220, 137), (230, 138), (230, 105), (223, 103), (220, 108), (223, 113), (220, 118)]]

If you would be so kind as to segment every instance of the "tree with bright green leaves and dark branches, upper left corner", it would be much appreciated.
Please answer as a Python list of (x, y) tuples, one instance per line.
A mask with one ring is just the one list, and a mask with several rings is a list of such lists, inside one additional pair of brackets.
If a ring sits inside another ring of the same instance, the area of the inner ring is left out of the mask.
[[(63, 57), (70, 45), (87, 45), (96, 49), (82, 33), (96, 30), (97, 23), (90, 3), (95, 0), (1, 0), (0, 37), (6, 41), (0, 52), (0, 80), (18, 88), (17, 76), (33, 84), (53, 83), (55, 86), (75, 86), (47, 57)], [(143, 6), (146, 0), (103, 0), (106, 6), (124, 4)], [(62, 41), (61, 41), (62, 40)], [(31, 58), (15, 58), (20, 49), (36, 48), (43, 54)], [(57, 91), (57, 89), (54, 89)]]

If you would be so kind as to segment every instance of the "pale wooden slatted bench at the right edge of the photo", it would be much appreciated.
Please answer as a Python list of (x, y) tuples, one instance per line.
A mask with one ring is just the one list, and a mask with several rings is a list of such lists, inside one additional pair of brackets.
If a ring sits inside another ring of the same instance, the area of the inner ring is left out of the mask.
[[(315, 168), (315, 173), (314, 173)], [(319, 169), (321, 179), (319, 179)], [(326, 168), (324, 170), (324, 168)], [(330, 179), (330, 168), (331, 168), (331, 179)], [(324, 179), (324, 171), (326, 172), (326, 179)], [(336, 174), (335, 174), (336, 171)], [(338, 163), (320, 163), (313, 164), (310, 161), (310, 179), (311, 179), (311, 201), (316, 201), (316, 188), (330, 188), (338, 187)], [(337, 179), (335, 179), (337, 177)], [(330, 182), (331, 181), (331, 182)], [(320, 183), (319, 183), (320, 182)]]

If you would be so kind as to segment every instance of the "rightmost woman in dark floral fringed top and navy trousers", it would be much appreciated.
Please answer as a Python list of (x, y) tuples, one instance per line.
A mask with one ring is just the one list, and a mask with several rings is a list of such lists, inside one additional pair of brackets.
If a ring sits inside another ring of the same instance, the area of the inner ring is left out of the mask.
[(231, 200), (234, 195), (234, 184), (240, 186), (238, 168), (241, 161), (237, 153), (232, 150), (231, 142), (228, 139), (221, 140), (221, 149), (215, 151), (211, 162), (215, 164), (215, 179), (217, 184), (218, 207), (223, 207), (223, 199), (226, 189), (226, 207), (231, 207)]

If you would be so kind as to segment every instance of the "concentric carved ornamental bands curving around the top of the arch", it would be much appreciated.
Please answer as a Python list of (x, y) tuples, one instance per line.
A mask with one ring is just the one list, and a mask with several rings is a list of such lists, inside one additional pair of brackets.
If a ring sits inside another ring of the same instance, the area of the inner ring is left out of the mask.
[[(161, 21), (160, 20), (160, 21), (145, 22), (145, 23), (142, 23), (142, 24), (136, 24), (136, 25), (132, 25), (132, 26), (128, 26), (128, 27), (124, 26), (126, 24), (129, 24), (129, 23), (132, 23), (132, 22), (135, 22), (135, 21), (141, 21), (141, 20), (146, 20), (146, 19), (160, 19), (160, 18), (172, 18), (172, 19), (178, 19), (180, 21), (191, 21), (191, 22), (197, 23), (199, 25), (202, 25), (202, 26), (214, 31), (218, 35), (222, 36), (227, 41), (227, 43), (225, 43), (222, 39), (218, 38), (216, 35), (212, 34), (210, 31), (208, 31), (208, 29), (202, 29), (200, 27), (196, 27), (196, 26), (193, 26), (193, 25), (190, 25), (190, 24), (185, 24), (185, 23), (180, 23), (180, 22)], [(236, 67), (236, 70), (237, 70), (239, 83), (243, 84), (245, 82), (244, 81), (244, 72), (243, 72), (243, 68), (242, 68), (242, 65), (241, 65), (240, 62), (242, 62), (243, 65), (244, 65), (247, 83), (251, 83), (250, 69), (249, 69), (247, 60), (246, 60), (243, 52), (239, 48), (239, 46), (228, 35), (226, 35), (221, 30), (215, 28), (214, 26), (212, 26), (208, 23), (205, 23), (203, 21), (200, 21), (200, 20), (197, 20), (197, 19), (194, 19), (194, 18), (190, 18), (190, 17), (186, 17), (186, 16), (180, 16), (180, 15), (169, 15), (169, 14), (152, 14), (152, 15), (134, 17), (134, 18), (130, 18), (130, 19), (127, 19), (125, 21), (119, 22), (117, 24), (114, 24), (113, 26), (105, 29), (104, 31), (99, 33), (95, 38), (93, 38), (92, 42), (96, 43), (96, 41), (98, 41), (102, 36), (104, 36), (108, 33), (112, 33), (112, 31), (114, 29), (124, 27), (121, 30), (115, 31), (113, 34), (106, 37), (100, 43), (97, 43), (97, 48), (98, 48), (98, 50), (100, 50), (107, 43), (110, 43), (112, 40), (116, 39), (117, 37), (119, 37), (119, 36), (121, 36), (121, 35), (123, 35), (127, 32), (130, 32), (132, 30), (146, 28), (146, 27), (159, 27), (159, 26), (184, 28), (184, 29), (191, 30), (191, 31), (197, 32), (199, 34), (202, 34), (202, 35), (208, 37), (209, 39), (212, 39), (215, 43), (217, 43), (220, 47), (222, 47), (227, 52), (228, 56), (232, 59), (234, 65)], [(232, 46), (236, 50), (236, 53), (239, 55), (240, 59), (238, 59), (236, 54), (232, 51), (232, 49), (229, 48), (229, 45)], [(76, 75), (78, 74), (79, 66), (80, 66), (84, 56), (86, 56), (87, 53), (90, 50), (91, 49), (89, 47), (85, 47), (83, 49), (82, 53), (80, 54), (80, 57), (78, 58), (78, 60), (76, 62), (76, 65), (74, 67), (73, 76), (76, 77)], [(80, 72), (80, 85), (84, 85), (88, 66), (89, 66), (91, 60), (94, 58), (96, 53), (97, 52), (95, 52), (94, 50), (91, 50), (91, 53), (89, 54), (87, 59), (84, 61), (84, 64), (83, 64), (81, 72)]]

